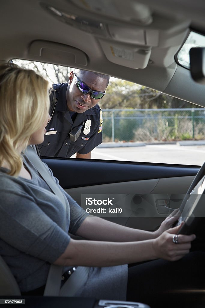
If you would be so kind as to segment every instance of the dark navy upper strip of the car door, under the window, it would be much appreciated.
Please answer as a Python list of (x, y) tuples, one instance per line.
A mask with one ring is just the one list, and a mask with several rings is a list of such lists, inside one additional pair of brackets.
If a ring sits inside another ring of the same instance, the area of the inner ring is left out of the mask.
[(52, 169), (54, 176), (59, 179), (64, 189), (156, 178), (195, 176), (199, 170), (199, 167), (112, 160), (42, 157), (42, 161)]

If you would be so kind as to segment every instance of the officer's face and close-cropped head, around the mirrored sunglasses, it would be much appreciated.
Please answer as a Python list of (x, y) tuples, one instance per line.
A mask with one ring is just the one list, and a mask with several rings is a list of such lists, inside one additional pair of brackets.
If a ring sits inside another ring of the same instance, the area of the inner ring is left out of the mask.
[[(77, 76), (83, 81), (91, 90), (104, 92), (107, 86), (107, 80), (103, 79), (92, 72), (85, 71), (83, 74)], [(67, 88), (66, 98), (69, 111), (83, 113), (86, 110), (93, 108), (100, 99), (91, 98), (91, 93), (82, 93), (75, 85), (76, 78), (71, 72), (69, 76), (69, 85)]]

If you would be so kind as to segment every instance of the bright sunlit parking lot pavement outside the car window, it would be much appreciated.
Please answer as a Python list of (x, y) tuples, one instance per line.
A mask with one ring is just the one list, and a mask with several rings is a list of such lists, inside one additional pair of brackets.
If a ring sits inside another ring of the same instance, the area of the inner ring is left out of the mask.
[(202, 165), (205, 145), (151, 144), (137, 147), (95, 148), (92, 159)]

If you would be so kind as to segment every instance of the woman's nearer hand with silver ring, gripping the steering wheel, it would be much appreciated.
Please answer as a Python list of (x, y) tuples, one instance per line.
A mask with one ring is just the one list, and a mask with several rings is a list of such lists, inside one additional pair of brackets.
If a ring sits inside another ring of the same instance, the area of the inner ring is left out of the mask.
[(192, 235), (178, 235), (178, 243), (173, 242), (173, 235), (177, 234), (183, 222), (172, 229), (168, 229), (159, 237), (153, 240), (153, 249), (158, 258), (168, 261), (177, 261), (189, 253), (191, 248), (191, 241), (195, 240), (195, 234)]

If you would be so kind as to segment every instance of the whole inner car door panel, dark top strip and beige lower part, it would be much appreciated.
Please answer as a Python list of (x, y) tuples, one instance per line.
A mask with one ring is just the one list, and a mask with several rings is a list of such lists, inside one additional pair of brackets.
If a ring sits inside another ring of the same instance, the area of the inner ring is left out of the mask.
[(117, 205), (122, 213), (104, 218), (148, 231), (157, 229), (173, 209), (179, 208), (198, 171), (197, 167), (159, 164), (48, 158), (43, 161), (79, 205), (82, 194), (98, 194), (99, 199), (104, 199), (105, 194), (120, 194)]

